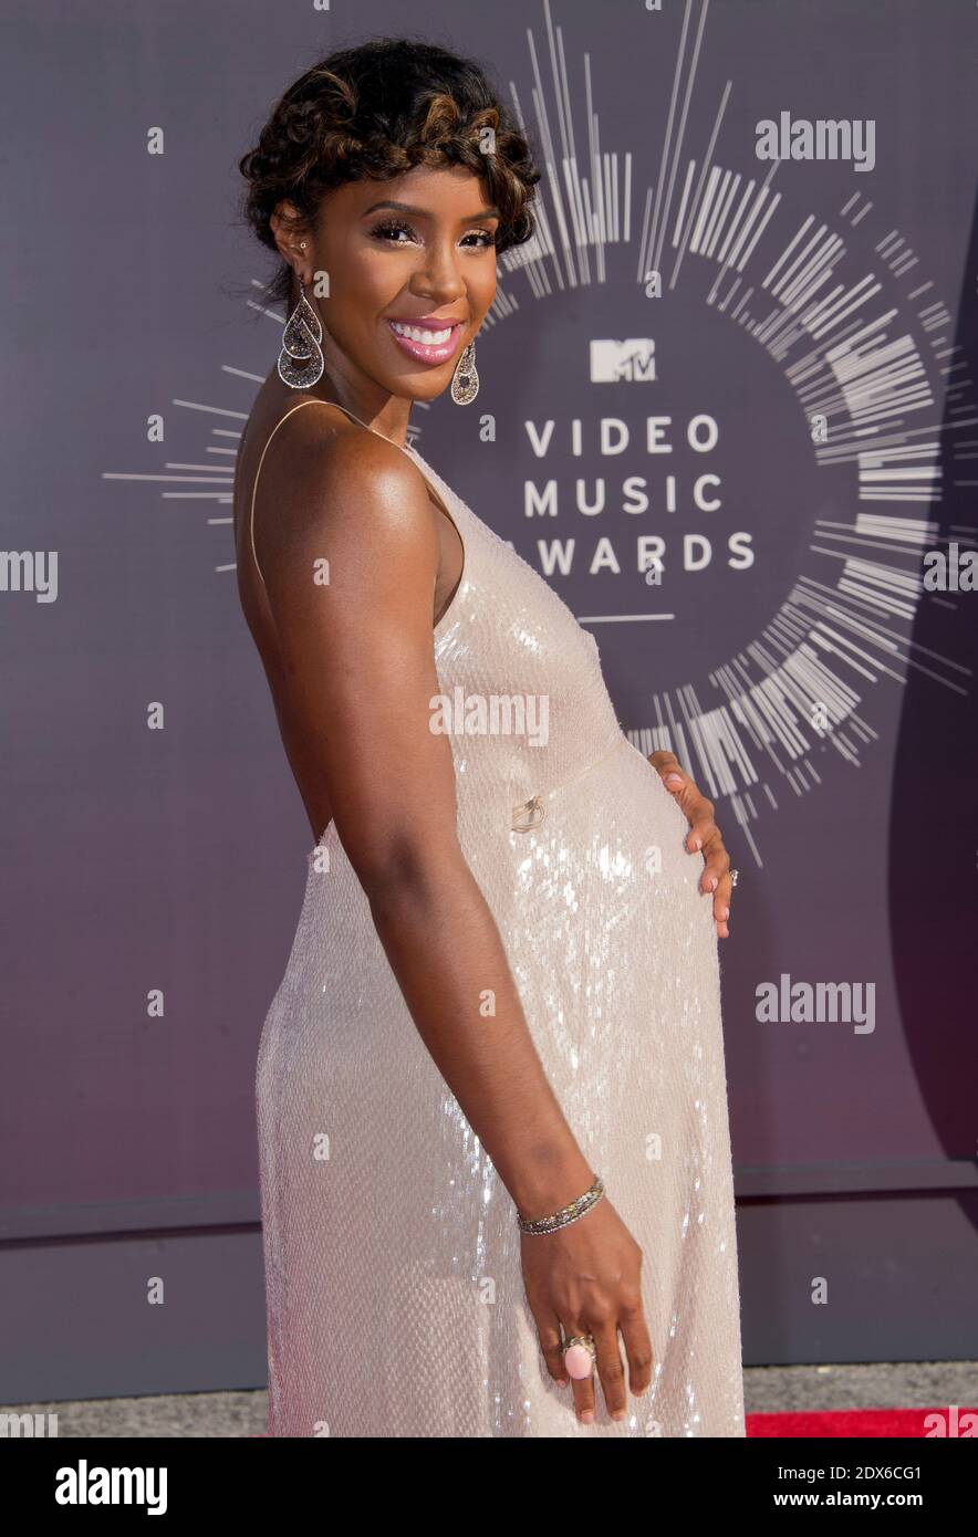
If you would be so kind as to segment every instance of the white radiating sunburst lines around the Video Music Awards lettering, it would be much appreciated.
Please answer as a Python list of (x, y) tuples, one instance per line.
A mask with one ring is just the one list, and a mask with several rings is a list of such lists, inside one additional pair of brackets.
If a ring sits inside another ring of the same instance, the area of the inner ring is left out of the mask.
[[(627, 274), (647, 306), (646, 284), (657, 274), (670, 297), (663, 304), (692, 300), (780, 369), (810, 429), (812, 484), (826, 472), (847, 476), (855, 510), (812, 513), (806, 566), (772, 593), (770, 616), (753, 639), (700, 676), (650, 695), (650, 716), (627, 729), (643, 753), (675, 752), (715, 802), (730, 802), (761, 865), (757, 822), (778, 808), (780, 792), (795, 798), (818, 788), (817, 753), (833, 750), (858, 767), (877, 742), (873, 687), (918, 672), (958, 696), (969, 693), (970, 670), (920, 646), (912, 627), (924, 599), (955, 607), (947, 595), (924, 590), (924, 552), (950, 541), (978, 546), (973, 515), (969, 523), (941, 516), (952, 492), (975, 484), (969, 461), (978, 407), (950, 306), (861, 188), (846, 191), (852, 169), (838, 168), (844, 189), (832, 211), (818, 214), (800, 206), (804, 183), (793, 163), (773, 161), (761, 174), (741, 137), (724, 154), (734, 81), (710, 108), (697, 101), (707, 9), (706, 0), (687, 0), (672, 86), (655, 109), (661, 123), (649, 126), (641, 149), (630, 149), (603, 143), (590, 55), (581, 54), (572, 78), (563, 31), (544, 0), (543, 35), (527, 32), (524, 88), (509, 83), (514, 115), (538, 148), (537, 231), (500, 258), (484, 329), (511, 320), (521, 300), (546, 304), (575, 289), (594, 292), (612, 275), (620, 281)], [(694, 143), (695, 151), (686, 148)], [(249, 306), (281, 332), (281, 315)], [(646, 307), (630, 335), (654, 324), (647, 315)], [(687, 321), (695, 324), (694, 309)], [(275, 352), (280, 344), (278, 335)], [(229, 364), (221, 372), (254, 386), (264, 380)], [(183, 398), (172, 404), (192, 413), (206, 441), (195, 437), (195, 447), (160, 472), (105, 478), (158, 484), (165, 501), (200, 501), (215, 509), (208, 526), (231, 526), (232, 515), (217, 509), (232, 506), (249, 409)], [(235, 563), (214, 569), (234, 572)], [(578, 618), (621, 633), (621, 626), (652, 619), (667, 629), (674, 615), (657, 612), (649, 589), (640, 612)]]

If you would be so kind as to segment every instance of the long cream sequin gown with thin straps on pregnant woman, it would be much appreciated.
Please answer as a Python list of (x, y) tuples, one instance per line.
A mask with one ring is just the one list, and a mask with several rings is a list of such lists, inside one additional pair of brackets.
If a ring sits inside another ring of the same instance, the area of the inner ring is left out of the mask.
[[(701, 856), (684, 850), (686, 818), (621, 733), (594, 638), (406, 452), (464, 546), (434, 632), (443, 693), (549, 699), (546, 745), (501, 730), (451, 738), (458, 838), (563, 1111), (644, 1251), (654, 1380), (621, 1422), (597, 1385), (589, 1426), (551, 1380), (514, 1202), (424, 1048), (331, 825), (308, 856), (258, 1048), (269, 1432), (744, 1436), (718, 941)], [(492, 1028), (478, 1004), (466, 1025)]]

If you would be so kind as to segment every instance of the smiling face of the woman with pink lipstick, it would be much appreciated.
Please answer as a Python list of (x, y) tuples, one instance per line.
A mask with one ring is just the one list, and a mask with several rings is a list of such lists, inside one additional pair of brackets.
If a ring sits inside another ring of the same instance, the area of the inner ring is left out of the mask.
[(328, 295), (315, 280), (306, 290), (328, 370), (409, 400), (440, 395), (495, 298), (498, 227), (486, 184), (464, 166), (328, 192), (315, 229), (297, 237), (297, 271), (329, 275)]

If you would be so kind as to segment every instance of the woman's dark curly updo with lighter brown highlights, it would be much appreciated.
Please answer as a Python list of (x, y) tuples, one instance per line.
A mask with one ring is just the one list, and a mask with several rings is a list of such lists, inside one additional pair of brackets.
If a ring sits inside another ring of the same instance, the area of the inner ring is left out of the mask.
[[(277, 254), (269, 221), (283, 198), (304, 231), (332, 188), (446, 164), (484, 180), (500, 211), (498, 254), (531, 238), (540, 172), (483, 69), (434, 43), (378, 37), (329, 54), (289, 86), (238, 161), (248, 181), (241, 214)], [(280, 258), (268, 301), (288, 307), (292, 289), (292, 267)]]

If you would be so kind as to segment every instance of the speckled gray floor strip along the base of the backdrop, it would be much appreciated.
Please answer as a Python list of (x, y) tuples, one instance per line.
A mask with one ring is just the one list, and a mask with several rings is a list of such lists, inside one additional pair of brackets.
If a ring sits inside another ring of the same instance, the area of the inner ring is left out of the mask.
[[(792, 1409), (944, 1408), (978, 1403), (978, 1362), (909, 1362), (872, 1366), (750, 1366), (747, 1413)], [(57, 1414), (57, 1434), (261, 1436), (264, 1393), (192, 1393), (160, 1399), (92, 1399), (82, 1403), (6, 1405), (8, 1414)]]

